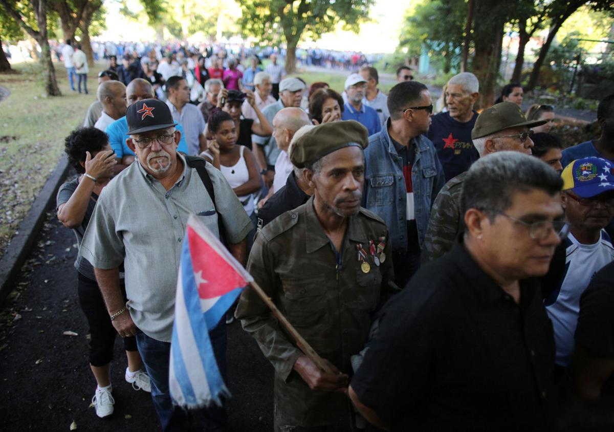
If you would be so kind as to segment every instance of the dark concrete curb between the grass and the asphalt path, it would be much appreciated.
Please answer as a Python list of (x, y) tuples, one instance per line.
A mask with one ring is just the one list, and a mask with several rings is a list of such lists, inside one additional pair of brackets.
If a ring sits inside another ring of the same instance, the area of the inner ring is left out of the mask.
[(58, 167), (55, 168), (53, 174), (47, 179), (47, 183), (45, 183), (36, 200), (34, 200), (32, 208), (30, 208), (25, 219), (19, 225), (19, 234), (12, 238), (0, 260), (0, 307), (4, 304), (4, 300), (6, 300), (6, 297), (13, 288), (15, 278), (26, 261), (26, 257), (28, 257), (34, 239), (36, 239), (42, 228), (42, 224), (45, 222), (46, 210), (50, 203), (55, 201), (55, 195), (58, 193), (58, 189), (60, 189), (66, 175), (68, 175), (69, 168), (68, 158), (66, 154), (63, 154)]

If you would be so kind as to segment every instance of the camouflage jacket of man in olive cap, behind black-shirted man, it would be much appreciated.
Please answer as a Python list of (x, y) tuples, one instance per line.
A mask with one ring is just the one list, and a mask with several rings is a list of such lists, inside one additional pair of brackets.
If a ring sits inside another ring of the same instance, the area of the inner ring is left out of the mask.
[(464, 215), (461, 214), (461, 192), (465, 176), (467, 171), (448, 181), (435, 198), (422, 248), (423, 264), (452, 249), (459, 233), (465, 230)]

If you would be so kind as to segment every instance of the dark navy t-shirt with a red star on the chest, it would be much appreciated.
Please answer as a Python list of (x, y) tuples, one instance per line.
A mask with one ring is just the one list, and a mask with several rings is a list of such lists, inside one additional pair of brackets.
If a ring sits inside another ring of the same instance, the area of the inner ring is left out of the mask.
[(477, 118), (476, 111), (473, 111), (473, 117), (467, 123), (457, 122), (450, 117), (449, 112), (433, 116), (427, 136), (437, 149), (446, 181), (467, 171), (480, 157), (471, 140), (471, 131)]

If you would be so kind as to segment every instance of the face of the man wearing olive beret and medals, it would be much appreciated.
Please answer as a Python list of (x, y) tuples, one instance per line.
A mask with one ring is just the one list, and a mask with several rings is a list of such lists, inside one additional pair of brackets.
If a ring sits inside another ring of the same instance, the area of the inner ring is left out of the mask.
[(319, 173), (308, 170), (306, 175), (316, 200), (325, 208), (342, 217), (358, 213), (365, 182), (365, 158), (360, 147), (344, 147), (326, 155)]

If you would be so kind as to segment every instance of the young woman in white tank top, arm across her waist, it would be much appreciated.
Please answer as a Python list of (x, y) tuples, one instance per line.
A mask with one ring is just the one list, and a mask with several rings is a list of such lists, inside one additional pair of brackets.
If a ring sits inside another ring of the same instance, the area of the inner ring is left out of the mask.
[(212, 112), (208, 129), (213, 139), (201, 157), (222, 171), (246, 213), (254, 219), (252, 194), (260, 190), (260, 174), (254, 154), (247, 147), (236, 144), (235, 122), (227, 112)]

